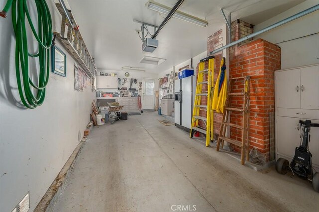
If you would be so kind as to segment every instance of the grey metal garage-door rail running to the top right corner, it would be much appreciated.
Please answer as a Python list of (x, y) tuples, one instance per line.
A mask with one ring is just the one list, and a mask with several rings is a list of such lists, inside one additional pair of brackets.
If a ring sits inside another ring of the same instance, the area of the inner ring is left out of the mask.
[(306, 10), (304, 10), (302, 12), (299, 12), (299, 13), (293, 15), (293, 16), (290, 16), (290, 17), (288, 17), (288, 18), (286, 18), (284, 20), (281, 20), (281, 21), (279, 21), (279, 22), (277, 22), (277, 23), (275, 23), (273, 25), (270, 25), (270, 26), (268, 26), (268, 27), (266, 27), (266, 28), (264, 28), (264, 29), (262, 29), (262, 30), (260, 30), (258, 32), (255, 32), (255, 33), (250, 34), (250, 35), (248, 35), (246, 37), (243, 37), (243, 38), (241, 38), (239, 40), (236, 40), (236, 41), (234, 41), (234, 42), (232, 42), (230, 44), (227, 44), (226, 46), (220, 47), (220, 48), (210, 52), (209, 54), (215, 54), (217, 52), (220, 52), (220, 51), (222, 51), (222, 50), (224, 50), (226, 48), (229, 48), (231, 46), (234, 46), (234, 45), (236, 45), (236, 44), (238, 44), (240, 42), (248, 40), (249, 38), (255, 37), (255, 36), (260, 35), (260, 34), (262, 34), (264, 32), (272, 30), (272, 29), (274, 29), (274, 28), (276, 28), (278, 26), (284, 25), (285, 23), (288, 23), (290, 21), (296, 20), (297, 18), (300, 18), (300, 17), (303, 17), (305, 15), (308, 15), (308, 14), (314, 12), (314, 11), (317, 11), (318, 9), (319, 9), (319, 4), (317, 4), (317, 5), (313, 6), (313, 7), (310, 7), (309, 9), (306, 9)]

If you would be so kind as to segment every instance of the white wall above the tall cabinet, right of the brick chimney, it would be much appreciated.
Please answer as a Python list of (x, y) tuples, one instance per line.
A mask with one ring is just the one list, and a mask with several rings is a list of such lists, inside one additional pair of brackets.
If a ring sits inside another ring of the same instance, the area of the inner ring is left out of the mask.
[[(298, 12), (318, 4), (308, 0), (254, 27), (257, 32), (273, 23), (283, 20)], [(262, 38), (271, 43), (279, 43), (290, 39), (319, 32), (319, 11), (291, 21), (283, 26), (261, 34), (254, 39)], [(278, 44), (281, 47), (281, 68), (287, 69), (319, 63), (319, 34)]]

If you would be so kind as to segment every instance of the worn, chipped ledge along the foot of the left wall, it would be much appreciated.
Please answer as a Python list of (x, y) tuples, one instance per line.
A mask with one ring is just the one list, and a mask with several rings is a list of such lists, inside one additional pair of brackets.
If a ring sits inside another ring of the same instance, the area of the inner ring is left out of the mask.
[(86, 138), (83, 138), (81, 142), (74, 149), (73, 153), (69, 159), (64, 164), (58, 176), (55, 178), (49, 189), (45, 192), (44, 196), (34, 209), (34, 212), (52, 212), (53, 208), (61, 195), (64, 187), (66, 186), (66, 181), (72, 171), (74, 163), (77, 159), (79, 152), (81, 151)]

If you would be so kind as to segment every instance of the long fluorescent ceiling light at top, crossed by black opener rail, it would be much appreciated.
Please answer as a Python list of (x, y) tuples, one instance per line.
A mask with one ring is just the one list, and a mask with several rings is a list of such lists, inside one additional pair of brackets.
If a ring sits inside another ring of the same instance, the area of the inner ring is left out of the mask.
[[(163, 13), (165, 15), (168, 15), (168, 13), (170, 12), (171, 8), (165, 5), (162, 5), (160, 3), (154, 2), (154, 1), (149, 1), (147, 2), (147, 7), (149, 9), (152, 9), (154, 11)], [(206, 27), (208, 26), (208, 22), (202, 19), (199, 19), (195, 16), (186, 14), (184, 12), (180, 12), (180, 11), (176, 11), (173, 15), (173, 17), (178, 18), (180, 20), (184, 20), (187, 21), (189, 23), (193, 23), (196, 24), (198, 26), (202, 26), (202, 27)]]

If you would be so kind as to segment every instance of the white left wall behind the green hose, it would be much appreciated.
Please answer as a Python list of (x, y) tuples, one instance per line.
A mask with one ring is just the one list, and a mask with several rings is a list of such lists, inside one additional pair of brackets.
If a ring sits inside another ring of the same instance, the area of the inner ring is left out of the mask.
[[(0, 8), (5, 2), (0, 1)], [(60, 15), (54, 2), (47, 3), (53, 19), (57, 20), (54, 28), (59, 29)], [(89, 85), (83, 92), (74, 91), (73, 59), (67, 54), (67, 77), (50, 73), (43, 105), (36, 109), (17, 106), (20, 98), (11, 12), (0, 21), (0, 211), (12, 211), (28, 191), (30, 211), (33, 211), (81, 140), (90, 121), (95, 93)], [(67, 53), (60, 43), (56, 45)]]

